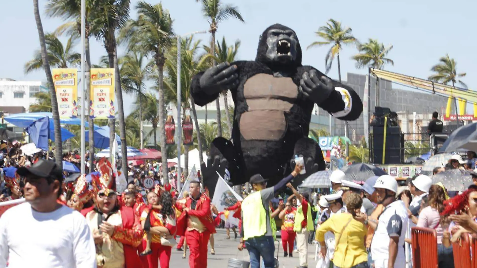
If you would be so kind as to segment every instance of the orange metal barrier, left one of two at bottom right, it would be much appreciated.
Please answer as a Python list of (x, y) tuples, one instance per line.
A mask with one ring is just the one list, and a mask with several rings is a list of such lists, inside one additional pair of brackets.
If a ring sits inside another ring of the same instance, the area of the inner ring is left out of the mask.
[[(435, 229), (412, 227), (414, 268), (437, 268), (437, 233)], [(457, 268), (457, 267), (456, 267)]]

